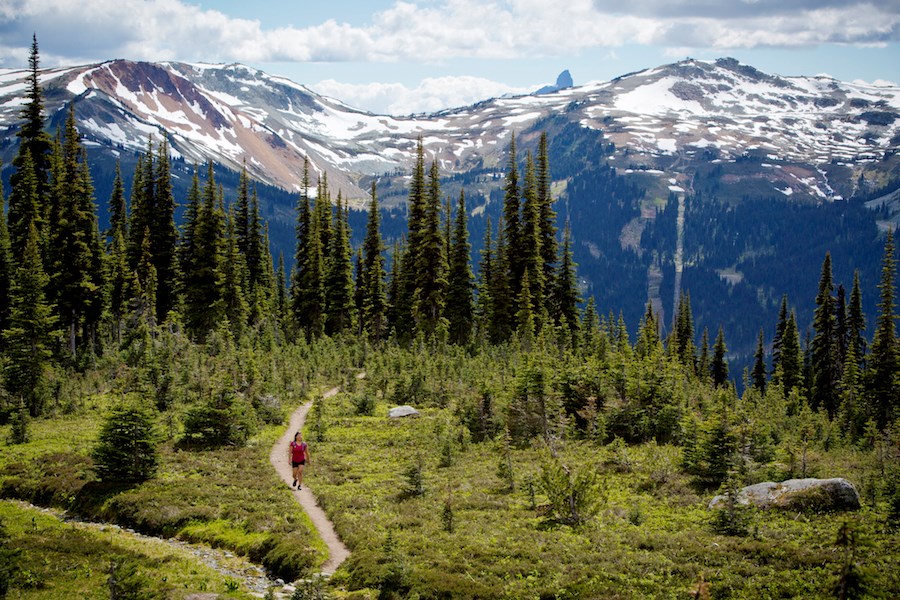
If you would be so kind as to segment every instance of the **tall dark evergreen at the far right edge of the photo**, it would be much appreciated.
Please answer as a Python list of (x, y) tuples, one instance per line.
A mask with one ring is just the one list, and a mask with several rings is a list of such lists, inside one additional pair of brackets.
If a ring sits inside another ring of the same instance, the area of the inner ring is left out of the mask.
[(897, 315), (894, 304), (896, 264), (894, 234), (888, 230), (881, 263), (881, 281), (878, 284), (878, 320), (872, 339), (872, 351), (869, 353), (866, 382), (870, 413), (879, 429), (888, 426), (900, 405), (900, 350), (897, 347)]

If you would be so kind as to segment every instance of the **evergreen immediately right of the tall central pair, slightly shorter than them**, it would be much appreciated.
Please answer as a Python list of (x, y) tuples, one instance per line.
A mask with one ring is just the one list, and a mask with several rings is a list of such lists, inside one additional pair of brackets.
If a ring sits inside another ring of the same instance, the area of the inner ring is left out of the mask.
[[(447, 220), (450, 220), (449, 213)], [(460, 191), (456, 206), (453, 235), (450, 245), (449, 274), (447, 281), (447, 321), (450, 341), (463, 345), (472, 335), (474, 306), (472, 292), (475, 287), (472, 268), (469, 265), (469, 231), (466, 226), (466, 197)]]

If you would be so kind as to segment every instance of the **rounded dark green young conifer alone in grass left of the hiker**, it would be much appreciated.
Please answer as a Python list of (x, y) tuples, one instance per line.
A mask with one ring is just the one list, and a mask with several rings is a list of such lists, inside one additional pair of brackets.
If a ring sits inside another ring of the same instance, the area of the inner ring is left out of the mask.
[(154, 415), (137, 404), (113, 407), (92, 452), (102, 481), (146, 481), (159, 462)]

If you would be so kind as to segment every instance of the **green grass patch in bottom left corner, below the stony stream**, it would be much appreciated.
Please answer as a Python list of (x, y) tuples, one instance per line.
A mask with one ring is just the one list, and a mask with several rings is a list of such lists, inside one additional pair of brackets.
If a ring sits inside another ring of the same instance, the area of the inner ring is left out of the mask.
[[(135, 539), (113, 528), (87, 528), (20, 503), (0, 502), (0, 521), (17, 550), (9, 598), (107, 598), (111, 565), (142, 598), (188, 598), (201, 592), (219, 598), (252, 596), (233, 581), (163, 542)], [(131, 596), (129, 596), (131, 597)], [(135, 596), (137, 597), (137, 596)]]

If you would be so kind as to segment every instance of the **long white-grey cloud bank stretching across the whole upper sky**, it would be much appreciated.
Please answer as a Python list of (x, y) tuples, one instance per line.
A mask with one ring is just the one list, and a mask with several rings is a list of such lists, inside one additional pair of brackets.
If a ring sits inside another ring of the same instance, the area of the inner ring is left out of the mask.
[(186, 0), (5, 0), (0, 61), (223, 62), (558, 56), (598, 47), (798, 47), (900, 40), (900, 0), (396, 0), (363, 25), (263, 28)]

